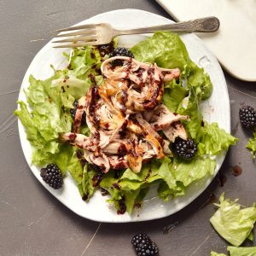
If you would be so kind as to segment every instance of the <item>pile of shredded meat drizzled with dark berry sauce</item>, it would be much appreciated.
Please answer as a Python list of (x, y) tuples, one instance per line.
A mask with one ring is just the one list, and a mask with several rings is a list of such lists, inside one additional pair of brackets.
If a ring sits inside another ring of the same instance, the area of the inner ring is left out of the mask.
[[(122, 67), (112, 66), (117, 59)], [(83, 148), (85, 160), (102, 172), (128, 167), (140, 172), (143, 162), (172, 155), (170, 142), (187, 138), (180, 121), (188, 116), (172, 113), (161, 100), (164, 83), (179, 79), (179, 69), (117, 56), (103, 61), (101, 70), (104, 83), (79, 99), (73, 132), (61, 134), (61, 141)], [(79, 133), (84, 112), (90, 137)]]

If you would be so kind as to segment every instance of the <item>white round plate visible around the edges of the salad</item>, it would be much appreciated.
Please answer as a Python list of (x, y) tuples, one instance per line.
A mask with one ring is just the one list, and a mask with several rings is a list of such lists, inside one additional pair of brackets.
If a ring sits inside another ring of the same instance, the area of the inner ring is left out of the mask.
[[(171, 23), (172, 21), (159, 15), (154, 15), (138, 9), (121, 9), (104, 13), (102, 15), (96, 15), (89, 20), (84, 20), (79, 24), (97, 22), (109, 22), (116, 28), (129, 29), (137, 26), (156, 26)], [(138, 41), (144, 38), (146, 38), (146, 36), (143, 35), (124, 36), (119, 38), (119, 43), (124, 46), (131, 47), (133, 44), (136, 44)], [(183, 35), (182, 39), (184, 44), (187, 46), (191, 59), (199, 66), (204, 67), (212, 79), (212, 96), (201, 106), (204, 119), (209, 122), (218, 122), (218, 125), (221, 128), (224, 128), (225, 131), (230, 132), (229, 95), (224, 74), (221, 67), (218, 65), (218, 61), (195, 35)], [(33, 74), (37, 79), (47, 79), (52, 75), (52, 70), (49, 67), (50, 64), (53, 64), (55, 68), (67, 66), (67, 62), (62, 55), (62, 51), (63, 49), (53, 49), (52, 44), (49, 42), (38, 52), (30, 67), (28, 67), (26, 71), (26, 75), (20, 88), (19, 100), (26, 101), (26, 96), (24, 95), (23, 89), (27, 88), (29, 85), (28, 78), (30, 74)], [(96, 192), (96, 195), (91, 198), (90, 202), (85, 203), (82, 201), (79, 195), (79, 190), (77, 189), (76, 184), (73, 182), (73, 178), (69, 175), (67, 175), (65, 178), (64, 188), (59, 190), (51, 189), (46, 183), (44, 183), (40, 177), (39, 169), (31, 164), (32, 149), (26, 140), (26, 132), (23, 125), (21, 125), (20, 120), (19, 131), (21, 147), (25, 154), (26, 161), (33, 174), (38, 178), (40, 183), (43, 184), (45, 189), (48, 189), (52, 195), (54, 195), (73, 212), (76, 212), (84, 218), (90, 218), (96, 221), (118, 223), (166, 217), (179, 211), (183, 207), (186, 207), (191, 201), (195, 200), (195, 198), (207, 188), (208, 184), (211, 183), (213, 178), (207, 177), (204, 180), (201, 180), (199, 183), (192, 184), (189, 187), (186, 195), (180, 196), (173, 201), (164, 202), (155, 196), (148, 195), (148, 200), (143, 202), (143, 207), (134, 212), (131, 216), (127, 213), (124, 215), (117, 215), (113, 207), (110, 207), (106, 202), (106, 196), (103, 197), (99, 192)], [(218, 156), (215, 174), (218, 172), (223, 160), (224, 154)]]

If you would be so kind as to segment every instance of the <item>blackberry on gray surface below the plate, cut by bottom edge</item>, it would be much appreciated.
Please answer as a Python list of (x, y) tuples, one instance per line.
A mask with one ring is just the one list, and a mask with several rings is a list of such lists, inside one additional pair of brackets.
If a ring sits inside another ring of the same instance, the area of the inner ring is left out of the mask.
[(138, 256), (141, 255), (158, 255), (159, 248), (152, 241), (148, 235), (140, 233), (133, 236), (131, 239), (131, 244), (136, 250)]

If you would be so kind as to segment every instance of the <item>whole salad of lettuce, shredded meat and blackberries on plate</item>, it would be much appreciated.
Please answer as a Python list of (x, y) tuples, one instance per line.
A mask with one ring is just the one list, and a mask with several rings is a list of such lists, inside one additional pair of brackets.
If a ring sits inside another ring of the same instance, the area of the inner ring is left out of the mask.
[(202, 119), (212, 82), (177, 34), (156, 32), (129, 50), (113, 41), (64, 55), (67, 68), (53, 67), (44, 81), (30, 76), (15, 114), (32, 164), (70, 172), (84, 201), (101, 189), (119, 214), (131, 213), (154, 184), (162, 200), (173, 200), (212, 175), (215, 156), (236, 143)]

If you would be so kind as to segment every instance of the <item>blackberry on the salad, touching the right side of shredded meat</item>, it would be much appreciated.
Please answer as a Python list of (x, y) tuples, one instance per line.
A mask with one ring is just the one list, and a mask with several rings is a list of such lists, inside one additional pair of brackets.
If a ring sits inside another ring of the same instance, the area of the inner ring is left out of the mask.
[(177, 137), (172, 144), (173, 153), (183, 160), (192, 159), (197, 153), (197, 146), (192, 139), (183, 140), (181, 137)]

